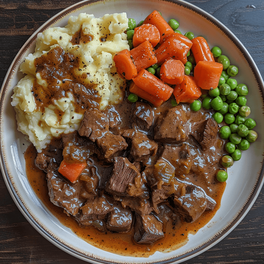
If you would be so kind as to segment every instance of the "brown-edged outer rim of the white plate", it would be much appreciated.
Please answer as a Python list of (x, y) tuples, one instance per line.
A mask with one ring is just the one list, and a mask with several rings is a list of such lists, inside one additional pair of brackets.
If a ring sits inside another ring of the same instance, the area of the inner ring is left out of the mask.
[[(82, 8), (84, 6), (89, 6), (89, 5), (93, 4), (93, 3), (98, 3), (98, 2), (107, 3), (108, 1), (110, 1), (110, 0), (106, 0), (106, 1), (104, 1), (104, 0), (86, 0), (86, 1), (82, 1), (82, 2), (76, 3), (73, 6), (70, 6), (70, 7), (66, 8), (66, 9), (64, 9), (63, 11), (61, 11), (60, 13), (58, 13), (57, 15), (52, 17), (49, 21), (47, 21), (46, 23), (44, 23), (44, 25), (42, 25), (39, 29), (37, 29), (37, 31), (35, 31), (34, 34), (32, 34), (32, 36), (29, 38), (29, 40), (27, 40), (27, 42), (23, 45), (21, 50), (18, 52), (17, 56), (13, 60), (11, 66), (10, 66), (10, 68), (8, 70), (8, 73), (7, 73), (7, 75), (6, 75), (5, 79), (4, 79), (3, 86), (2, 86), (2, 89), (1, 89), (0, 109), (3, 109), (3, 105), (5, 103), (6, 92), (8, 91), (10, 79), (12, 78), (12, 75), (14, 74), (14, 69), (21, 62), (21, 58), (25, 54), (27, 49), (29, 49), (29, 47), (36, 40), (37, 34), (39, 32), (44, 31), (45, 29), (47, 29), (48, 27), (53, 25), (55, 22), (57, 22), (58, 20), (62, 19), (64, 16), (69, 15), (71, 12), (76, 11), (79, 8)], [(211, 16), (207, 12), (201, 10), (200, 8), (194, 6), (193, 4), (190, 4), (190, 3), (187, 3), (187, 2), (184, 2), (184, 1), (180, 1), (180, 0), (172, 0), (172, 1), (169, 1), (169, 0), (158, 0), (158, 1), (172, 2), (172, 3), (175, 3), (175, 4), (179, 5), (179, 6), (183, 6), (184, 8), (187, 8), (189, 10), (192, 10), (193, 12), (197, 13), (201, 17), (206, 18), (206, 20), (208, 20), (209, 22), (213, 23), (220, 31), (222, 31), (223, 34), (226, 35), (239, 48), (241, 54), (247, 60), (247, 62), (249, 64), (249, 67), (251, 68), (252, 72), (254, 73), (254, 77), (256, 79), (256, 82), (258, 83), (258, 89), (261, 92), (262, 101), (264, 101), (264, 88), (263, 88), (264, 85), (263, 85), (263, 80), (262, 80), (261, 74), (260, 74), (256, 64), (254, 63), (251, 55), (248, 53), (248, 51), (244, 47), (244, 45), (237, 39), (237, 37), (234, 36), (234, 34), (227, 27), (225, 27), (221, 22), (219, 22), (213, 16)], [(164, 3), (164, 4), (166, 4), (166, 3)], [(103, 259), (98, 259), (98, 258), (95, 258), (95, 257), (92, 257), (92, 256), (88, 256), (86, 254), (83, 254), (82, 252), (77, 251), (74, 248), (69, 247), (65, 243), (63, 243), (63, 242), (59, 241), (57, 238), (55, 238), (52, 234), (50, 234), (50, 232), (48, 230), (45, 230), (40, 225), (40, 223), (38, 223), (38, 221), (34, 218), (34, 216), (30, 214), (30, 212), (28, 211), (28, 209), (24, 205), (23, 200), (19, 197), (18, 192), (16, 191), (16, 189), (15, 189), (13, 183), (12, 183), (12, 179), (11, 179), (10, 173), (8, 171), (8, 164), (6, 164), (6, 161), (5, 161), (5, 156), (4, 156), (4, 153), (3, 153), (4, 138), (3, 138), (3, 130), (2, 130), (2, 119), (3, 119), (2, 115), (3, 115), (3, 111), (0, 111), (1, 170), (2, 170), (2, 173), (3, 173), (3, 178), (4, 178), (5, 183), (7, 185), (8, 191), (10, 192), (10, 194), (11, 194), (13, 200), (15, 201), (16, 205), (18, 206), (20, 211), (23, 213), (23, 215), (27, 218), (29, 223), (39, 233), (41, 233), (44, 237), (46, 237), (49, 241), (51, 241), (54, 245), (60, 247), (64, 251), (72, 254), (73, 256), (81, 257), (83, 260), (92, 261), (94, 263), (120, 263), (120, 262), (114, 262), (114, 261), (106, 261), (106, 260), (103, 260)], [(244, 204), (243, 208), (241, 208), (241, 210), (238, 213), (238, 215), (236, 215), (234, 217), (234, 220), (232, 221), (232, 223), (229, 223), (227, 225), (227, 227), (225, 227), (225, 229), (223, 229), (219, 234), (215, 234), (215, 236), (213, 238), (211, 238), (209, 241), (207, 241), (206, 243), (201, 245), (199, 248), (196, 248), (196, 249), (194, 249), (194, 250), (192, 250), (190, 252), (186, 252), (186, 253), (181, 254), (179, 256), (176, 256), (176, 257), (168, 258), (166, 260), (157, 261), (157, 262), (149, 262), (149, 263), (172, 263), (172, 262), (178, 262), (178, 261), (187, 260), (187, 259), (189, 259), (191, 257), (196, 256), (199, 253), (204, 252), (206, 249), (209, 249), (214, 244), (216, 244), (221, 239), (223, 239), (243, 219), (243, 217), (246, 215), (246, 213), (249, 211), (249, 209), (253, 205), (253, 202), (256, 200), (257, 195), (260, 192), (261, 187), (262, 187), (263, 182), (264, 182), (263, 162), (264, 162), (264, 159), (262, 160), (262, 168), (261, 168), (261, 171), (260, 171), (260, 173), (258, 175), (258, 180), (257, 180), (253, 190), (251, 191), (251, 195), (248, 197), (248, 200), (247, 200), (246, 204)]]

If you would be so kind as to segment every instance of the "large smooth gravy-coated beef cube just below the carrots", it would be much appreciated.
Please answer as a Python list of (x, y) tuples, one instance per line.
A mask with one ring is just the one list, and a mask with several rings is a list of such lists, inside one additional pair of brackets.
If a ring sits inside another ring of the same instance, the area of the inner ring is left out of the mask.
[(188, 137), (187, 120), (189, 118), (183, 106), (177, 105), (158, 118), (154, 127), (154, 139), (162, 143), (182, 142)]

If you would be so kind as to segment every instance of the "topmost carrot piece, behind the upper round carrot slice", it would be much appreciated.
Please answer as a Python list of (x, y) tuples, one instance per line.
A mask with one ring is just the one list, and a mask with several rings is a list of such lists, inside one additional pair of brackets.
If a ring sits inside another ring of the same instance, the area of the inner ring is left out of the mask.
[(157, 27), (160, 34), (159, 43), (162, 43), (165, 37), (171, 35), (174, 32), (173, 29), (167, 23), (167, 21), (156, 10), (154, 10), (145, 18), (143, 24), (151, 24)]

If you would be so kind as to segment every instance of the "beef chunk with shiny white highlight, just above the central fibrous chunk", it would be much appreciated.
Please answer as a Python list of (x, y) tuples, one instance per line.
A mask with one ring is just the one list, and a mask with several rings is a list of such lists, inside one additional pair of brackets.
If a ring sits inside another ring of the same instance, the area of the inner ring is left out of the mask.
[(140, 131), (128, 129), (122, 133), (122, 136), (131, 139), (130, 154), (135, 161), (141, 161), (146, 164), (149, 157), (157, 153), (158, 144)]

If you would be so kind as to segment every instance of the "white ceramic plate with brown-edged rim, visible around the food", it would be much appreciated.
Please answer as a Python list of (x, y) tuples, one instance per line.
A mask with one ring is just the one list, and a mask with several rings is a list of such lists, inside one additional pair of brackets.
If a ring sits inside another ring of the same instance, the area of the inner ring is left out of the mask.
[[(136, 4), (135, 4), (136, 2)], [(169, 253), (156, 252), (148, 258), (125, 257), (95, 248), (70, 229), (65, 228), (46, 210), (32, 191), (25, 175), (23, 152), (28, 142), (17, 131), (15, 112), (11, 107), (13, 87), (21, 79), (19, 65), (27, 54), (34, 52), (36, 35), (50, 26), (65, 26), (70, 15), (80, 12), (94, 14), (127, 12), (137, 22), (153, 10), (162, 12), (166, 20), (176, 18), (182, 32), (192, 31), (196, 36), (206, 36), (210, 47), (218, 45), (223, 54), (228, 55), (234, 65), (239, 66), (238, 83), (249, 87), (247, 96), (251, 115), (257, 122), (258, 139), (242, 153), (239, 162), (229, 169), (229, 178), (221, 207), (213, 219), (195, 235), (190, 235), (188, 243)], [(242, 43), (221, 22), (208, 13), (183, 1), (165, 0), (116, 0), (83, 1), (65, 9), (41, 26), (25, 43), (14, 59), (4, 80), (0, 98), (0, 140), (1, 169), (7, 188), (23, 215), (44, 237), (64, 251), (92, 263), (180, 263), (207, 250), (223, 239), (242, 220), (256, 200), (263, 185), (263, 80), (248, 51)]]

